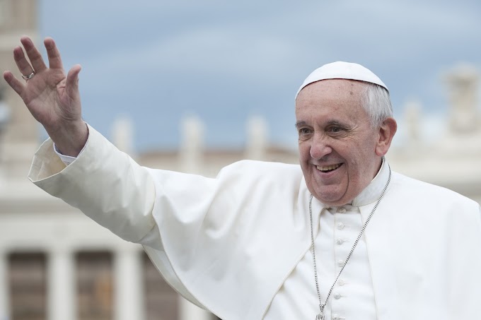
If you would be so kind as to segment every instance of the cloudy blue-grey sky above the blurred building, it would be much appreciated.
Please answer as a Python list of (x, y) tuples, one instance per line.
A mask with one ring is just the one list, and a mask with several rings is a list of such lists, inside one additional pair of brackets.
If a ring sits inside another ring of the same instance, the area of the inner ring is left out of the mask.
[(478, 0), (39, 1), (40, 38), (54, 37), (66, 69), (83, 68), (84, 119), (110, 137), (115, 119), (131, 118), (140, 152), (176, 148), (189, 115), (211, 148), (242, 147), (252, 116), (294, 148), (294, 95), (332, 61), (388, 85), (401, 139), (409, 101), (432, 135), (447, 116), (446, 74), (481, 71)]

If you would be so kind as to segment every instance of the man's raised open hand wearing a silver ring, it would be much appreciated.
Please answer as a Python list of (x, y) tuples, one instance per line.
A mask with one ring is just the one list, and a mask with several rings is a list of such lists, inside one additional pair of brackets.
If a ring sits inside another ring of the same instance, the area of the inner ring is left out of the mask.
[(49, 67), (29, 37), (22, 37), (21, 43), (31, 65), (21, 47), (13, 49), (13, 58), (24, 80), (17, 79), (10, 71), (4, 72), (4, 78), (23, 99), (33, 117), (45, 127), (60, 152), (75, 157), (88, 138), (87, 126), (81, 118), (81, 66), (73, 66), (65, 76), (59, 50), (52, 38), (44, 41)]

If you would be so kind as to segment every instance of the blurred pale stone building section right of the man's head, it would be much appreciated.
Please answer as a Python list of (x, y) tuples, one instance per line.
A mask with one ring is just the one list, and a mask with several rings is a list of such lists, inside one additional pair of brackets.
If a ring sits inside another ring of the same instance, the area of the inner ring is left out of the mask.
[(444, 78), (448, 119), (436, 138), (421, 135), (421, 106), (403, 108), (406, 139), (392, 148), (388, 160), (394, 170), (457, 191), (481, 203), (481, 111), (479, 74), (460, 64)]

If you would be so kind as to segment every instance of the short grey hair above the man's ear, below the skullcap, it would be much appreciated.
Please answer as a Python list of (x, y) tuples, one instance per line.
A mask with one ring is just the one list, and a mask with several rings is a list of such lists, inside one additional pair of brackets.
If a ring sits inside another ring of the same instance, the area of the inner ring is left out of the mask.
[(391, 105), (389, 92), (386, 88), (375, 83), (366, 83), (366, 90), (362, 99), (362, 107), (373, 128), (378, 128), (384, 120), (393, 117), (393, 105)]

